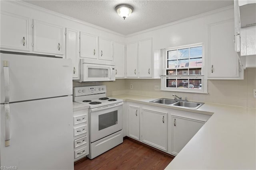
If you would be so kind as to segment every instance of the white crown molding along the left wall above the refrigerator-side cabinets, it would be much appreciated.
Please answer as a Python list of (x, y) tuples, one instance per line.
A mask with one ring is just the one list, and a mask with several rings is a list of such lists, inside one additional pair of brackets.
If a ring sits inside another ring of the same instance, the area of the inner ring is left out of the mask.
[(57, 17), (61, 17), (61, 18), (64, 18), (66, 20), (70, 20), (70, 21), (75, 21), (75, 22), (78, 22), (78, 23), (81, 23), (83, 25), (86, 25), (86, 26), (89, 26), (89, 27), (93, 27), (93, 28), (96, 28), (96, 29), (100, 29), (102, 31), (106, 31), (108, 33), (112, 33), (112, 34), (115, 34), (115, 35), (118, 35), (118, 36), (122, 36), (122, 37), (125, 37), (124, 34), (121, 34), (121, 33), (117, 33), (115, 31), (112, 31), (110, 29), (106, 29), (106, 28), (103, 28), (103, 27), (100, 27), (100, 26), (97, 26), (97, 25), (94, 25), (94, 24), (91, 24), (91, 23), (88, 23), (88, 22), (85, 22), (85, 21), (81, 21), (81, 20), (78, 20), (76, 18), (72, 18), (70, 16), (66, 16), (64, 14), (60, 14), (58, 12), (54, 12), (54, 11), (51, 11), (51, 10), (47, 10), (45, 8), (42, 8), (42, 7), (39, 7), (39, 6), (36, 6), (36, 5), (33, 5), (33, 4), (29, 4), (27, 2), (23, 2), (21, 0), (10, 0), (10, 1), (6, 1), (10, 4), (16, 4), (16, 5), (20, 5), (20, 6), (24, 6), (24, 7), (28, 7), (28, 8), (32, 8), (34, 10), (38, 10), (38, 11), (41, 11), (41, 12), (46, 12), (48, 14), (52, 14), (54, 16), (57, 16)]

